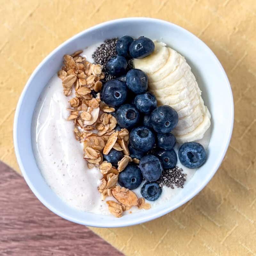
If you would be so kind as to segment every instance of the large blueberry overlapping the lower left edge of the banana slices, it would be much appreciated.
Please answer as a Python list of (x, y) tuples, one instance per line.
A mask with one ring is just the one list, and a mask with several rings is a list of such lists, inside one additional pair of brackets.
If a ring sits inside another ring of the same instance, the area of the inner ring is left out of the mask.
[(156, 132), (171, 132), (178, 124), (178, 113), (170, 106), (164, 105), (154, 109), (150, 120)]

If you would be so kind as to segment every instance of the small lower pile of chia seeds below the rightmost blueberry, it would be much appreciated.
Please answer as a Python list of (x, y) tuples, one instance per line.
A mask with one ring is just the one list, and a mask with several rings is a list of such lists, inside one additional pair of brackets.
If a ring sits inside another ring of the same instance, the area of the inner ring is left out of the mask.
[(168, 188), (174, 189), (173, 184), (177, 188), (183, 188), (183, 185), (186, 181), (185, 176), (187, 176), (187, 174), (181, 172), (183, 172), (183, 170), (177, 166), (175, 166), (173, 169), (164, 170), (161, 177), (156, 182), (161, 188), (166, 186)]

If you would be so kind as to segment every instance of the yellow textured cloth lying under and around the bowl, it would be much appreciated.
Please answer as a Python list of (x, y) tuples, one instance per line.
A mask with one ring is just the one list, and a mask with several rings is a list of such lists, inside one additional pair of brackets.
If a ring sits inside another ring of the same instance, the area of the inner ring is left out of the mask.
[(219, 171), (199, 195), (162, 218), (92, 230), (126, 255), (256, 255), (255, 0), (0, 4), (0, 158), (17, 172), (16, 103), (32, 71), (59, 44), (100, 22), (136, 16), (171, 21), (201, 38), (222, 63), (234, 94), (234, 132)]

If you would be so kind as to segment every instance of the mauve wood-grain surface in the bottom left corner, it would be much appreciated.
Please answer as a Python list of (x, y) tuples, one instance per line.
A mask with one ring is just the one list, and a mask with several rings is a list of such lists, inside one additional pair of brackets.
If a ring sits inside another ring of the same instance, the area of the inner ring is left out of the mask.
[(0, 162), (1, 256), (121, 256), (85, 226), (48, 210), (25, 180)]

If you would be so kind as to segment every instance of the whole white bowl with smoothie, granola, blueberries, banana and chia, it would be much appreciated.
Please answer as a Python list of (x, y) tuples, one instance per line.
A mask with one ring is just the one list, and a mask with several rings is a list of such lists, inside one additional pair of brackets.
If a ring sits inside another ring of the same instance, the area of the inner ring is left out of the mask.
[(122, 227), (195, 196), (233, 128), (228, 78), (196, 36), (162, 20), (113, 20), (72, 37), (36, 68), (16, 109), (21, 172), (52, 212)]

